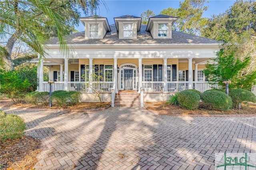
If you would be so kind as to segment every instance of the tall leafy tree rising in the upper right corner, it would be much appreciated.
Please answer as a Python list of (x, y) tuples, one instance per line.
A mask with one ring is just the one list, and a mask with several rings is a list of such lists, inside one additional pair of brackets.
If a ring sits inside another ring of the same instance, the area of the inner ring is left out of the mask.
[(256, 70), (256, 1), (237, 0), (226, 12), (214, 15), (201, 30), (201, 35), (224, 42), (226, 54), (244, 61), (250, 56), (250, 64), (242, 75), (250, 76)]

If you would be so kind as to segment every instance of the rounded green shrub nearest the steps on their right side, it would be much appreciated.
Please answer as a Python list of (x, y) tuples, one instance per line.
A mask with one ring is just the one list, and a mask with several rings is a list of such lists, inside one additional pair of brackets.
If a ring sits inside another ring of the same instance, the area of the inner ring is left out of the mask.
[(178, 95), (178, 103), (184, 109), (195, 110), (198, 108), (200, 96), (194, 91), (181, 91)]

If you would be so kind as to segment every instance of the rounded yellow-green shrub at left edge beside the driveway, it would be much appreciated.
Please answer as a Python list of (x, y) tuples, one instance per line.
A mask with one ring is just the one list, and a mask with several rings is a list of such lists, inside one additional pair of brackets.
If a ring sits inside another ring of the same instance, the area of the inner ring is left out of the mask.
[(21, 138), (26, 130), (24, 119), (17, 115), (6, 115), (0, 111), (0, 142)]

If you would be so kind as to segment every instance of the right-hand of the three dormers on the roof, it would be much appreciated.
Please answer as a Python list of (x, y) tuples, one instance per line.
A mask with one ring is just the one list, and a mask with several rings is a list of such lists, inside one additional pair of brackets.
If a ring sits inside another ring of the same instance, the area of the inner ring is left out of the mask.
[(172, 25), (177, 17), (158, 15), (148, 20), (147, 32), (150, 32), (154, 39), (172, 38)]

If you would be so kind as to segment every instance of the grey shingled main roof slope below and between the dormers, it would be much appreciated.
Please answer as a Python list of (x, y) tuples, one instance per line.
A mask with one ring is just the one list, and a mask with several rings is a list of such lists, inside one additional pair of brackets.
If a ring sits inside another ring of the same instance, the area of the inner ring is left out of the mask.
[[(107, 32), (103, 39), (85, 39), (84, 32), (71, 34), (69, 44), (198, 44), (221, 43), (216, 40), (193, 36), (182, 32), (172, 31), (171, 39), (153, 39), (150, 32), (146, 32), (147, 25), (141, 24), (137, 32), (137, 39), (119, 39), (115, 24), (110, 25), (111, 32)], [(47, 44), (58, 44), (58, 38), (51, 39)]]

